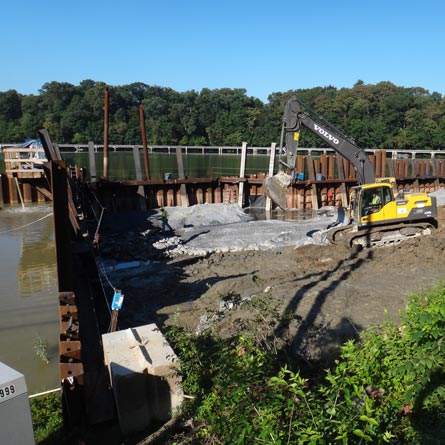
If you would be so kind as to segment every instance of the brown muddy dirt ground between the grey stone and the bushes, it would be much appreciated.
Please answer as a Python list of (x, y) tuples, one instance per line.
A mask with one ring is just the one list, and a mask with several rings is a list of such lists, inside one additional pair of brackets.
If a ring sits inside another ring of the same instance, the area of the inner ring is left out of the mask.
[[(140, 262), (108, 273), (125, 295), (120, 329), (156, 322), (230, 335), (256, 326), (318, 360), (370, 325), (398, 321), (409, 294), (444, 280), (442, 206), (438, 220), (432, 235), (363, 250), (312, 244), (163, 259), (152, 248), (162, 234), (138, 229), (102, 246), (105, 258)], [(270, 329), (284, 313), (292, 316)]]

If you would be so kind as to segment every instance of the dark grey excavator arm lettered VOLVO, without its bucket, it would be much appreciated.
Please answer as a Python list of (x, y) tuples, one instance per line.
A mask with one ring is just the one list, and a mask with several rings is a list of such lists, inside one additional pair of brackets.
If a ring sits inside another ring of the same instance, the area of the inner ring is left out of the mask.
[(327, 142), (337, 153), (347, 159), (357, 171), (360, 184), (375, 182), (374, 168), (365, 151), (357, 147), (347, 136), (333, 125), (324, 121), (295, 96), (286, 104), (283, 116), (283, 134), (287, 152), (288, 174), (295, 169), (300, 129), (304, 126)]

